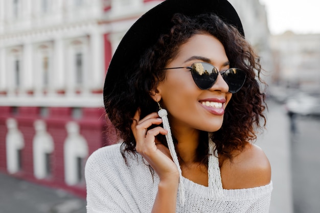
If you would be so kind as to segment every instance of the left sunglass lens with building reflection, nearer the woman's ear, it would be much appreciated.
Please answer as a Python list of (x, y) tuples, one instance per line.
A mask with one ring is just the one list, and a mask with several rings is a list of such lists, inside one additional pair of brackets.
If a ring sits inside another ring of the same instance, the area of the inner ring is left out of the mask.
[(191, 65), (192, 78), (200, 89), (209, 89), (218, 77), (218, 70), (209, 63), (198, 62)]

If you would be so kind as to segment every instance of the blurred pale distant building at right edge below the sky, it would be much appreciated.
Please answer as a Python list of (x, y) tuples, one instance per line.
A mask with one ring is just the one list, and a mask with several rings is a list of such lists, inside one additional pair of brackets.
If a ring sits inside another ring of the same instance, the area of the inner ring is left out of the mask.
[(320, 94), (320, 34), (288, 31), (273, 35), (271, 46), (278, 88)]

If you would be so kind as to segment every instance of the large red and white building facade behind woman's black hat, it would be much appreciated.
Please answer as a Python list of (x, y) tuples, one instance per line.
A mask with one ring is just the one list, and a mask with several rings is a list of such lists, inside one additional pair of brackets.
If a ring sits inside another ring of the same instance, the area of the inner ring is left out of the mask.
[[(102, 100), (109, 61), (132, 23), (160, 2), (0, 0), (1, 172), (85, 196), (85, 160), (118, 140)], [(264, 7), (230, 2), (270, 65)]]

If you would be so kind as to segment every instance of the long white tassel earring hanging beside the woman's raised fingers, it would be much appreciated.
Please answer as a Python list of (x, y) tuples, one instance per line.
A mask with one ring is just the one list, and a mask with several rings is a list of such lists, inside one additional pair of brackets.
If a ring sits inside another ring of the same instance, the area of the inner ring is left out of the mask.
[(164, 129), (168, 131), (168, 134), (166, 134), (166, 139), (167, 139), (167, 143), (168, 143), (168, 148), (171, 154), (171, 157), (173, 159), (173, 162), (175, 163), (175, 165), (178, 168), (179, 171), (179, 195), (180, 195), (180, 204), (184, 205), (185, 203), (185, 187), (184, 187), (184, 183), (182, 182), (182, 172), (181, 172), (181, 168), (180, 168), (180, 164), (178, 161), (178, 157), (177, 157), (177, 153), (175, 152), (175, 147), (173, 144), (173, 139), (172, 139), (172, 135), (171, 135), (171, 129), (170, 129), (170, 125), (169, 125), (169, 120), (168, 120), (168, 112), (167, 110), (161, 108), (159, 102), (158, 106), (159, 106), (159, 111), (158, 111), (158, 115), (162, 118), (162, 124), (164, 126)]

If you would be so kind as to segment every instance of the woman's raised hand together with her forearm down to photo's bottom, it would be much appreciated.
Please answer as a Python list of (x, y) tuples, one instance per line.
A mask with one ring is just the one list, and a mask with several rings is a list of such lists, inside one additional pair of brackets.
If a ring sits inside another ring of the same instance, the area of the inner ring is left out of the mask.
[(140, 110), (135, 112), (131, 129), (136, 141), (135, 149), (151, 165), (158, 174), (160, 182), (154, 200), (152, 213), (176, 212), (176, 200), (179, 185), (179, 172), (167, 147), (156, 140), (158, 134), (167, 134), (162, 127), (149, 129), (151, 125), (159, 125), (162, 119), (156, 112), (140, 120)]

